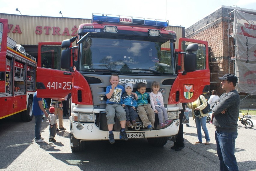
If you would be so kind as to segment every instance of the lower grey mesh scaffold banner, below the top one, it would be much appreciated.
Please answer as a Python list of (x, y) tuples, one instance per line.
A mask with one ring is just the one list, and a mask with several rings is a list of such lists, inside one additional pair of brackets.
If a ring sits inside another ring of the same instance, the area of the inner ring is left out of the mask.
[(236, 90), (256, 95), (256, 38), (236, 35), (235, 68)]

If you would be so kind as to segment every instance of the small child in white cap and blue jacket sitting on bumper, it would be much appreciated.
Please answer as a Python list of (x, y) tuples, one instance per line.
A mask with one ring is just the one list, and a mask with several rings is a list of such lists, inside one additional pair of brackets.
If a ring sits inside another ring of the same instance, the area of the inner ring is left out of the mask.
[[(125, 93), (123, 93), (121, 97), (121, 104), (124, 107), (124, 110), (126, 112), (126, 126), (133, 127), (137, 126), (136, 118), (135, 118), (135, 110), (137, 106), (137, 101), (135, 99), (135, 96), (132, 94), (133, 91), (133, 85), (130, 82), (127, 82), (124, 85)], [(132, 122), (132, 123), (131, 123)]]

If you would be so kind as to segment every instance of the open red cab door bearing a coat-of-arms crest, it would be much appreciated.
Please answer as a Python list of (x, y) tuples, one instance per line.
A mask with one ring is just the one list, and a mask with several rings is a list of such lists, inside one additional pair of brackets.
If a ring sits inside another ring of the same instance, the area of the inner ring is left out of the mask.
[[(170, 100), (187, 103), (195, 101), (210, 90), (208, 42), (180, 38), (178, 47), (178, 76), (172, 85)], [(174, 98), (175, 97), (175, 98)]]

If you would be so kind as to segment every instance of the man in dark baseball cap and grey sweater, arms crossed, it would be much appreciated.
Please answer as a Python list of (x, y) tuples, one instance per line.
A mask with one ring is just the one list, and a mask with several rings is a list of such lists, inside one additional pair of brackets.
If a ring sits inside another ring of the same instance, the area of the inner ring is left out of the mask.
[[(221, 88), (226, 92), (214, 102), (211, 102), (217, 154), (220, 160), (220, 170), (237, 170), (235, 156), (235, 140), (237, 137), (237, 120), (239, 116), (240, 96), (236, 91), (237, 77), (225, 74), (221, 79)], [(225, 136), (224, 136), (225, 135)]]

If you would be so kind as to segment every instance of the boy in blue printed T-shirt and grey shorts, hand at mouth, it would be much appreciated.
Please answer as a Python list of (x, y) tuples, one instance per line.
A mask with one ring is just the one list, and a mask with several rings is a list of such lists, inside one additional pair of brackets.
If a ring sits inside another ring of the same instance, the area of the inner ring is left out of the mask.
[(117, 74), (112, 74), (110, 76), (109, 82), (111, 85), (107, 86), (105, 94), (108, 98), (106, 102), (107, 125), (109, 131), (108, 138), (109, 142), (114, 144), (115, 139), (113, 134), (113, 126), (115, 124), (115, 115), (119, 119), (121, 125), (120, 136), (122, 136), (123, 140), (128, 140), (125, 132), (126, 114), (123, 107), (121, 106), (121, 96), (124, 92), (124, 87), (122, 85), (118, 85), (119, 76)]

